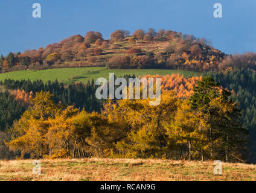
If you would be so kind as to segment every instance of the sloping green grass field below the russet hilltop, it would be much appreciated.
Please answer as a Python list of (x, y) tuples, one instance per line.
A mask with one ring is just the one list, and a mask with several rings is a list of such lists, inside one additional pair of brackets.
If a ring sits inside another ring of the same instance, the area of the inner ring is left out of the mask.
[(169, 69), (106, 69), (104, 67), (88, 67), (88, 68), (58, 68), (58, 69), (46, 69), (42, 71), (16, 71), (0, 74), (0, 81), (4, 81), (6, 78), (14, 80), (30, 79), (43, 80), (44, 82), (51, 80), (62, 81), (63, 83), (71, 83), (72, 81), (81, 81), (87, 83), (88, 80), (96, 80), (97, 78), (104, 77), (109, 78), (109, 73), (115, 73), (116, 77), (123, 77), (124, 75), (135, 75), (136, 77), (142, 75), (167, 75), (167, 74), (182, 74), (184, 77), (193, 77), (195, 75), (200, 76), (199, 72), (191, 71), (179, 71)]

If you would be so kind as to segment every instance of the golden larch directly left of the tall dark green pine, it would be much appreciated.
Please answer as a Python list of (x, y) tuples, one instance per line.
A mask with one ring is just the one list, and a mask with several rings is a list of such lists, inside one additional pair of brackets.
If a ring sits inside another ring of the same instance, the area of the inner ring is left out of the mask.
[(174, 121), (166, 125), (170, 139), (174, 139), (179, 159), (200, 159), (208, 150), (206, 122), (195, 113), (188, 101), (180, 101)]

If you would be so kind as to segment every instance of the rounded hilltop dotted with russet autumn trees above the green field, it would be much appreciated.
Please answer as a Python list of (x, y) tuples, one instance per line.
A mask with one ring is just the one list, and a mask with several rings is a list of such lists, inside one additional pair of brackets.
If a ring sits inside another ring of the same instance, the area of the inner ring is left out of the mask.
[(100, 32), (75, 35), (45, 48), (1, 55), (1, 72), (24, 69), (106, 66), (107, 68), (160, 68), (207, 71), (218, 69), (225, 54), (211, 42), (193, 35), (150, 28), (116, 30), (109, 40)]

